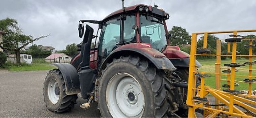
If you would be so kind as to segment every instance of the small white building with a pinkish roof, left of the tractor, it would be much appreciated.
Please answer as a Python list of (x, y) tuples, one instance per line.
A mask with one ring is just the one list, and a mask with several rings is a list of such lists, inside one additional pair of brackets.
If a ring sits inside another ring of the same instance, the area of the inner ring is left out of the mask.
[(53, 62), (53, 63), (69, 63), (71, 60), (71, 57), (64, 53), (53, 53), (52, 55), (46, 57), (44, 60), (46, 62)]

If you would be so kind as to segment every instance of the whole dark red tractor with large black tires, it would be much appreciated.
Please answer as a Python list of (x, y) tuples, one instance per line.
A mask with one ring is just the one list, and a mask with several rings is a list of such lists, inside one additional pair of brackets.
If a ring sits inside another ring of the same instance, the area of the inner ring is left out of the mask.
[[(138, 4), (101, 21), (80, 20), (81, 53), (71, 64), (54, 63), (58, 69), (45, 78), (48, 109), (69, 111), (80, 93), (81, 107), (98, 102), (102, 117), (186, 117), (189, 55), (169, 46), (168, 18), (156, 5)], [(84, 23), (98, 24), (97, 35)]]

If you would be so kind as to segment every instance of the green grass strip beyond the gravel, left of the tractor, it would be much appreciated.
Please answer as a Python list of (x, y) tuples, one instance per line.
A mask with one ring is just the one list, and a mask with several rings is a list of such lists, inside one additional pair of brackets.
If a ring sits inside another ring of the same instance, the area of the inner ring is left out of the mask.
[(7, 68), (9, 71), (36, 71), (36, 70), (52, 70), (56, 68), (50, 65), (51, 63), (46, 63), (44, 59), (35, 58), (32, 64), (22, 63), (20, 66), (15, 64), (9, 65)]

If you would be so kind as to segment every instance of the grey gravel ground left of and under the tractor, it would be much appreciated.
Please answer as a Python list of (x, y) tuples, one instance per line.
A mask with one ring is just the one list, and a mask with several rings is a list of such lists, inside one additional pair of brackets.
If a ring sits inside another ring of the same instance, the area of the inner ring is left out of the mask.
[(95, 103), (87, 110), (80, 108), (79, 105), (85, 102), (81, 98), (68, 113), (49, 111), (44, 104), (42, 89), (47, 72), (0, 70), (0, 117), (100, 117)]

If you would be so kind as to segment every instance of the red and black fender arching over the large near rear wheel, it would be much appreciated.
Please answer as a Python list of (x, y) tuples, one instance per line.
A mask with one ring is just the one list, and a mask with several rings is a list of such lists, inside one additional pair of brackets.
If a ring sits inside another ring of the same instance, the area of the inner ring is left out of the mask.
[(116, 48), (114, 51), (108, 55), (108, 57), (104, 60), (104, 62), (100, 66), (100, 70), (104, 68), (104, 66), (112, 61), (113, 58), (120, 55), (142, 55), (146, 57), (149, 61), (151, 61), (157, 69), (162, 70), (175, 70), (176, 67), (172, 64), (168, 58), (163, 55), (161, 52), (152, 48), (147, 43), (130, 43), (119, 48)]

